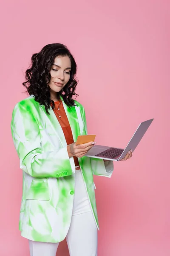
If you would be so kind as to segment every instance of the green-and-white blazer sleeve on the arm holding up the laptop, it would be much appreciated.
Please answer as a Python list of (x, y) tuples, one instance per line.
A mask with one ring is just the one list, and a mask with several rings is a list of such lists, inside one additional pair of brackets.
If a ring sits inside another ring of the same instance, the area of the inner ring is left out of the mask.
[[(84, 123), (85, 133), (88, 134), (84, 107), (82, 107), (82, 119)], [(93, 158), (93, 157), (90, 157), (90, 160), (91, 160), (92, 172), (94, 175), (100, 175), (100, 176), (109, 177), (109, 178), (111, 177), (114, 169), (113, 161), (104, 161), (102, 159)]]

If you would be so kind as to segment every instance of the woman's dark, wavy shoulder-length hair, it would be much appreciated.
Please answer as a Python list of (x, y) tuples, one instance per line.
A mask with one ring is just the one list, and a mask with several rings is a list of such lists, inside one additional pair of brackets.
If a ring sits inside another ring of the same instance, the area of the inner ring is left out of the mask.
[(54, 108), (54, 101), (50, 99), (50, 87), (48, 86), (51, 80), (50, 70), (54, 64), (54, 59), (57, 56), (68, 56), (71, 60), (70, 79), (65, 87), (57, 93), (57, 96), (62, 96), (66, 105), (74, 106), (74, 99), (72, 97), (77, 95), (75, 93), (77, 80), (75, 75), (77, 73), (77, 64), (73, 55), (64, 44), (47, 44), (38, 53), (34, 53), (31, 57), (31, 66), (26, 70), (26, 81), (23, 86), (29, 95), (34, 95), (35, 101), (40, 105), (45, 106), (45, 111), (49, 114), (48, 109), (52, 103)]

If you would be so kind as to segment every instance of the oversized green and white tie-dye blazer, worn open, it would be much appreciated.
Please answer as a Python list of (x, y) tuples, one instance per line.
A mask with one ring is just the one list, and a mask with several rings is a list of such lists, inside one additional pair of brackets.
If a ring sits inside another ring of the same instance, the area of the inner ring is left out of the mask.
[[(69, 108), (63, 102), (74, 141), (78, 135), (87, 134), (84, 108), (75, 103)], [(68, 157), (65, 136), (52, 108), (49, 113), (34, 96), (29, 96), (14, 108), (11, 133), (23, 170), (21, 236), (59, 242), (67, 235), (71, 223), (75, 164), (74, 158)], [(111, 177), (113, 162), (89, 157), (78, 160), (99, 229), (93, 174)]]

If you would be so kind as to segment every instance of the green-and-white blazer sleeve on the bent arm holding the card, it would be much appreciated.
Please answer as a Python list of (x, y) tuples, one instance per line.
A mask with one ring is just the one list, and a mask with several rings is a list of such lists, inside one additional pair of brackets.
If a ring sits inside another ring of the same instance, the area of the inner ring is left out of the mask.
[(11, 134), (20, 158), (20, 168), (32, 177), (63, 177), (75, 172), (74, 158), (67, 146), (43, 151), (37, 120), (26, 106), (18, 103), (12, 113)]

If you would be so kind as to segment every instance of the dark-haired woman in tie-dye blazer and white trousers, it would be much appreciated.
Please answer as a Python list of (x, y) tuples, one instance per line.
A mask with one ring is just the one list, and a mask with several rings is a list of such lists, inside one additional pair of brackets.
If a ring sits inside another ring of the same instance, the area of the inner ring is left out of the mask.
[(111, 177), (113, 162), (84, 156), (94, 142), (75, 144), (78, 135), (87, 134), (85, 110), (72, 99), (76, 72), (67, 47), (46, 45), (26, 70), (23, 85), (30, 96), (12, 114), (23, 170), (19, 229), (29, 240), (31, 256), (55, 256), (65, 237), (71, 256), (97, 255), (93, 175)]

